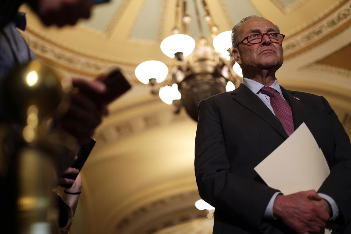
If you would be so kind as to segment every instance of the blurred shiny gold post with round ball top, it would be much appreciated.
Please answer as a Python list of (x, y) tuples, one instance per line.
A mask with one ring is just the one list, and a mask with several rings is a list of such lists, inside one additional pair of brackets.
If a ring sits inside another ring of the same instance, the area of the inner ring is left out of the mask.
[(53, 122), (67, 110), (68, 91), (38, 60), (17, 67), (4, 81), (8, 116), (0, 127), (0, 176), (9, 209), (6, 233), (58, 233), (52, 189), (72, 163), (76, 141), (58, 133)]

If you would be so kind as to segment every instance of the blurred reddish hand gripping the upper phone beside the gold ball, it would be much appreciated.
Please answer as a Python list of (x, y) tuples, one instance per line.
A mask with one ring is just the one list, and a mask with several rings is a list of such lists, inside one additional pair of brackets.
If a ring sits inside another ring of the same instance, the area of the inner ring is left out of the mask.
[(105, 92), (106, 86), (100, 80), (82, 78), (72, 78), (72, 83), (78, 89), (73, 89), (71, 106), (56, 126), (75, 136), (81, 145), (86, 145), (102, 116), (108, 113), (106, 105), (97, 100)]

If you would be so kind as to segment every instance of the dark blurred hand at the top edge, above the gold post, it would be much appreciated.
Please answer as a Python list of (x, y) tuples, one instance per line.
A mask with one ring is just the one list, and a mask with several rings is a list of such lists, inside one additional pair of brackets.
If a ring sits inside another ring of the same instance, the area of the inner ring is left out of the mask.
[(45, 25), (74, 25), (79, 18), (89, 18), (91, 0), (28, 0)]

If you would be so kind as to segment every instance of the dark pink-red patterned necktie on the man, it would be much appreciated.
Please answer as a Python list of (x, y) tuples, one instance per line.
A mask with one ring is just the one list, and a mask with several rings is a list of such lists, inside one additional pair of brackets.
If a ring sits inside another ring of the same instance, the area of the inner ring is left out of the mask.
[(289, 104), (284, 98), (271, 87), (262, 87), (261, 92), (268, 95), (271, 106), (280, 123), (282, 123), (285, 132), (290, 136), (294, 132), (294, 122), (292, 120), (292, 113)]

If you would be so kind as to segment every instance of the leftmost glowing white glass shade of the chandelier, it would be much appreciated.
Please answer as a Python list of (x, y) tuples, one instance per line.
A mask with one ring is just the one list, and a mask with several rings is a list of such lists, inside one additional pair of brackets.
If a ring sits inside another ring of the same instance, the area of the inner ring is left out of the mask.
[(144, 84), (147, 84), (152, 78), (160, 83), (166, 79), (167, 74), (168, 67), (166, 64), (156, 60), (142, 62), (135, 68), (135, 76)]

